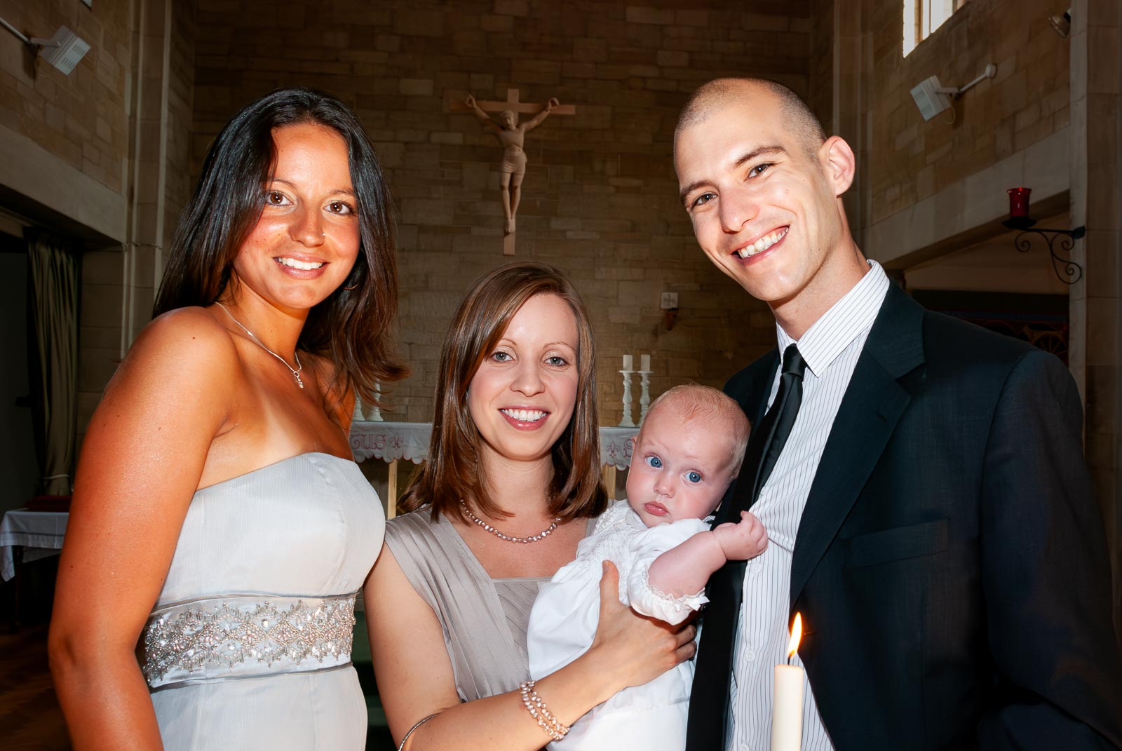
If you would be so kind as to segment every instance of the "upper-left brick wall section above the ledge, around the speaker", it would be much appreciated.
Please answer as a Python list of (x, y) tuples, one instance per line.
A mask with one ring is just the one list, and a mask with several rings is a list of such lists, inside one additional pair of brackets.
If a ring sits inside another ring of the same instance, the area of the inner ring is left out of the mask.
[(91, 47), (64, 75), (0, 29), (0, 126), (117, 192), (128, 149), (129, 6), (126, 0), (99, 0), (93, 9), (81, 2), (0, 0), (0, 18), (26, 36), (50, 37), (66, 26)]

